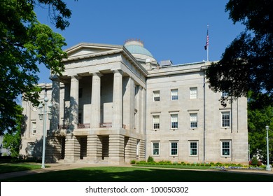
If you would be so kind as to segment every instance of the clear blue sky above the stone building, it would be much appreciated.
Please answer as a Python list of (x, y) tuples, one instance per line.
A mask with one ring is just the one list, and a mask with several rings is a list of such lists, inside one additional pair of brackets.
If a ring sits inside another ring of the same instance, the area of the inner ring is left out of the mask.
[[(204, 45), (209, 25), (209, 60), (214, 61), (244, 29), (228, 18), (228, 0), (65, 1), (72, 16), (64, 31), (50, 24), (47, 8), (36, 9), (41, 23), (66, 38), (64, 49), (80, 42), (123, 45), (129, 38), (138, 38), (158, 62), (202, 62), (207, 59)], [(50, 83), (48, 70), (41, 68), (39, 77), (40, 83)]]

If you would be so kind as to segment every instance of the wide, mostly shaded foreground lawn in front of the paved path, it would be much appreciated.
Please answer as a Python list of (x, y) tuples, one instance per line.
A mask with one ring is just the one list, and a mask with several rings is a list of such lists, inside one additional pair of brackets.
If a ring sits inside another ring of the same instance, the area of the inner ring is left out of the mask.
[(189, 171), (139, 167), (87, 167), (21, 176), (3, 181), (22, 182), (264, 182), (273, 175)]

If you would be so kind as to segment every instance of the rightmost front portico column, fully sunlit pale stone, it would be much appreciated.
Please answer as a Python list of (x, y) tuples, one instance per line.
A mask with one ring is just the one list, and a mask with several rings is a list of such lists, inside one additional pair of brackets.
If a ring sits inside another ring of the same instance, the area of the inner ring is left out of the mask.
[(114, 71), (112, 127), (123, 127), (123, 71), (121, 70)]

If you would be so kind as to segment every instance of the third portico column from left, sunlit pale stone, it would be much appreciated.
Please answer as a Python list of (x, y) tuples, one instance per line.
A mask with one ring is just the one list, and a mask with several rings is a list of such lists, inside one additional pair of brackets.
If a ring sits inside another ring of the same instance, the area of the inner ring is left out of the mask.
[(98, 128), (101, 123), (101, 73), (92, 73), (91, 128)]

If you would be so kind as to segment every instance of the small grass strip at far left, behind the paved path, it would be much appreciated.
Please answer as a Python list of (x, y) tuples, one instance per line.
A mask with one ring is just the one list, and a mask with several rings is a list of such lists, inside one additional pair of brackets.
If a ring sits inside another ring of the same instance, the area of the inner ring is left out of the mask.
[(0, 174), (8, 172), (21, 172), (26, 170), (41, 169), (41, 164), (36, 163), (1, 163)]

